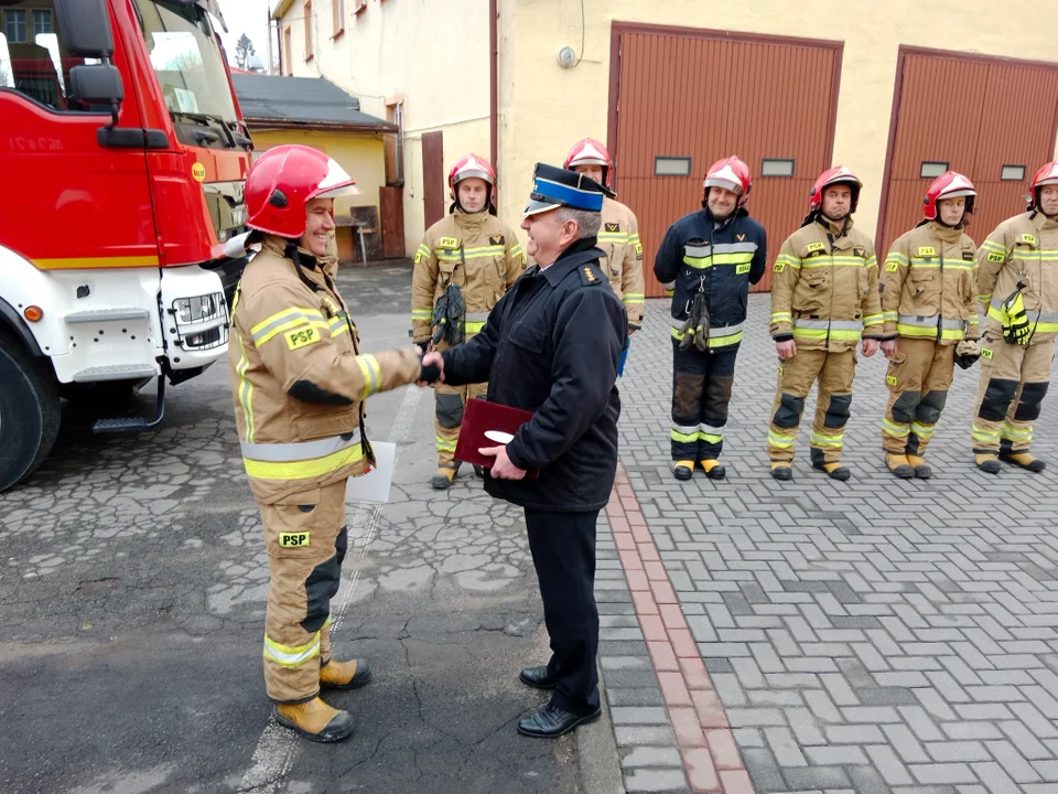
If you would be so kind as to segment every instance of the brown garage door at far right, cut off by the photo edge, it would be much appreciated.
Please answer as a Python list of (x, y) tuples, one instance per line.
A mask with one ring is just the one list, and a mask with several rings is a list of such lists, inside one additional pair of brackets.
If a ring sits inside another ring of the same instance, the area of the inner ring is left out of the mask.
[(1051, 159), (1058, 64), (900, 50), (878, 248), (922, 217), (929, 183), (946, 169), (978, 189), (969, 234), (983, 240), (1023, 210), (1036, 169)]

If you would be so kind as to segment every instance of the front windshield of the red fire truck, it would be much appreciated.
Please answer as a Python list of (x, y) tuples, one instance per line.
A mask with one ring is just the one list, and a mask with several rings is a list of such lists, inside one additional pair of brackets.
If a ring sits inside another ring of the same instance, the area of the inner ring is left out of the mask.
[(151, 64), (170, 112), (182, 119), (236, 121), (213, 23), (188, 0), (136, 0)]

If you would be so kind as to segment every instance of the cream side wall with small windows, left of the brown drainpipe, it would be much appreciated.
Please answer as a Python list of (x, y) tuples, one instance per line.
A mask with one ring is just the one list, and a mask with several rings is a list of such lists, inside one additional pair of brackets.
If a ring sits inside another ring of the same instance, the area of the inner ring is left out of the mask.
[(468, 151), (488, 157), (488, 3), (368, 0), (354, 14), (356, 3), (345, 0), (345, 33), (333, 39), (331, 2), (313, 0), (309, 62), (303, 0), (280, 6), (280, 30), (291, 28), (293, 74), (326, 77), (382, 119), (387, 98), (403, 96), (404, 247), (413, 251), (423, 233), (422, 133), (443, 132), (445, 174)]

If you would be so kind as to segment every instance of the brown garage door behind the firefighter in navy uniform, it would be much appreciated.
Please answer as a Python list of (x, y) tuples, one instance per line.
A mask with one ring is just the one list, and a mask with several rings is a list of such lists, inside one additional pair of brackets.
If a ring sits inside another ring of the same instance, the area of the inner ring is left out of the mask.
[[(648, 297), (665, 293), (661, 237), (701, 207), (705, 169), (728, 154), (749, 165), (747, 206), (775, 260), (831, 164), (840, 71), (840, 42), (614, 24), (609, 147), (618, 197), (639, 221)], [(757, 291), (770, 280), (769, 268)]]

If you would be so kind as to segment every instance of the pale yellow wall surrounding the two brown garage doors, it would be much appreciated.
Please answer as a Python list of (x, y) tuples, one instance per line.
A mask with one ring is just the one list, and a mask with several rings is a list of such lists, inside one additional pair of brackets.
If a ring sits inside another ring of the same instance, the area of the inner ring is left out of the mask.
[[(871, 235), (877, 224), (899, 45), (1058, 60), (1055, 3), (852, 0), (828, 11), (789, 0), (592, 0), (587, 10), (582, 50), (580, 3), (501, 0), (499, 165), (505, 190), (500, 192), (499, 210), (504, 218), (517, 218), (523, 207), (533, 163), (561, 164), (570, 146), (585, 136), (606, 140), (614, 21), (843, 41), (834, 162), (848, 165), (863, 180), (856, 221)], [(574, 68), (559, 65), (558, 53), (563, 46), (573, 47), (581, 57)], [(811, 79), (811, 75), (805, 77)], [(1024, 109), (1037, 110), (1052, 111)], [(1005, 114), (1011, 109), (985, 111)], [(797, 119), (790, 121), (796, 124)], [(727, 153), (702, 152), (702, 157), (709, 161)], [(1030, 172), (1038, 164), (1029, 163)], [(1018, 207), (1011, 210), (1013, 213)], [(769, 232), (779, 238), (786, 234), (780, 229)]]

